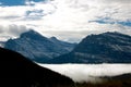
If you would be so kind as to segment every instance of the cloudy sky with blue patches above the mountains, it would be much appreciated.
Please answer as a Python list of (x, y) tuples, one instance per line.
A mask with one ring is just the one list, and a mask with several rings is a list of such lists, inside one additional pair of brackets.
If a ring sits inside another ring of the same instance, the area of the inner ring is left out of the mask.
[(35, 29), (79, 42), (91, 34), (131, 35), (131, 0), (0, 0), (0, 40)]

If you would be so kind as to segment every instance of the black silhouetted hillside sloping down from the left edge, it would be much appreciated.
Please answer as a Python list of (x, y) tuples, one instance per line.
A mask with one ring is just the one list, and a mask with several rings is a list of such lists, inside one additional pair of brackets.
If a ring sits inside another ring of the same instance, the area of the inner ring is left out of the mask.
[(73, 80), (0, 48), (1, 87), (73, 87)]

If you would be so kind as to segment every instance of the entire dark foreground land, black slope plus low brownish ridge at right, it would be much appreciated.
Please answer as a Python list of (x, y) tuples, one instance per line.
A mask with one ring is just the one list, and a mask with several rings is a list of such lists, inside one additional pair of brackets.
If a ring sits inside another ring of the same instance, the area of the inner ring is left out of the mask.
[(22, 54), (0, 48), (1, 87), (129, 87), (131, 74), (99, 77), (103, 83), (74, 83), (69, 77), (41, 67)]

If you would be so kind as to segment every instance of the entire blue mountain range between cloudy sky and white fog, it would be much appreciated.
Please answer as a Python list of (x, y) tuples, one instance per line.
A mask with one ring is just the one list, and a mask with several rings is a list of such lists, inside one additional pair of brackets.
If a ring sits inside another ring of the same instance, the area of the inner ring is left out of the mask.
[(131, 36), (117, 32), (90, 35), (76, 45), (28, 30), (4, 48), (39, 63), (131, 63)]

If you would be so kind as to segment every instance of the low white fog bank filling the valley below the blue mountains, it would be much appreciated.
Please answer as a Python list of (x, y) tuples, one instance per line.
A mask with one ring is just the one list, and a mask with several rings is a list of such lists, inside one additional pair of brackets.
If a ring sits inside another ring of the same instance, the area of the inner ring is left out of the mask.
[(39, 64), (63, 74), (74, 82), (97, 82), (99, 76), (131, 73), (131, 64)]

